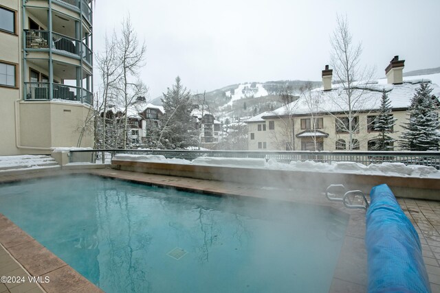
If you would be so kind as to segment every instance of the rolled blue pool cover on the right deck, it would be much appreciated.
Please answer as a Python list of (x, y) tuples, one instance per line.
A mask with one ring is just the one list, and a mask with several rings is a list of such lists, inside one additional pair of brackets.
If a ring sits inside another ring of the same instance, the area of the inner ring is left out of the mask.
[(417, 231), (388, 185), (371, 189), (365, 246), (369, 292), (431, 292)]

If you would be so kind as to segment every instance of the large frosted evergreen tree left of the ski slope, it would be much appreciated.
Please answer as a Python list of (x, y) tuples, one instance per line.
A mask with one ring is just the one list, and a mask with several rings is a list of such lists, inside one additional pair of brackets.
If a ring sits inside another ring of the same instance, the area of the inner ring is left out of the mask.
[(181, 85), (179, 76), (171, 89), (164, 93), (162, 106), (165, 113), (161, 118), (162, 131), (158, 139), (162, 148), (181, 149), (196, 145), (190, 92)]

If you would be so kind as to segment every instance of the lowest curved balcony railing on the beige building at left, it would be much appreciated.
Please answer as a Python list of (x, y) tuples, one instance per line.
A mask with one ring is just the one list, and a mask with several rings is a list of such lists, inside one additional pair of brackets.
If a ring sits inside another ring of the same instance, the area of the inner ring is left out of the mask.
[(24, 95), (26, 101), (61, 100), (65, 102), (80, 102), (91, 105), (93, 95), (86, 89), (67, 84), (52, 84), (50, 82), (25, 82)]

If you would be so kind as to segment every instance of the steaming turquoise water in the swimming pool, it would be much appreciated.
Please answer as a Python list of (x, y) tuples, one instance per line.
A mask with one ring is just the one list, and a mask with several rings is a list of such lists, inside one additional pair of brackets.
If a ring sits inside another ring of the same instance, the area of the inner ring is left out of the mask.
[(0, 213), (118, 293), (328, 292), (348, 220), (85, 175), (0, 185)]

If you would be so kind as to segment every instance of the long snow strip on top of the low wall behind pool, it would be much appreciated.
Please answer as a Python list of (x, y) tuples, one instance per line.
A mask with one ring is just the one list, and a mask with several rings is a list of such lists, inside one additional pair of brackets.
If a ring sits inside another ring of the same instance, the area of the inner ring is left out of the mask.
[(250, 158), (214, 158), (200, 157), (194, 161), (184, 159), (166, 159), (158, 155), (117, 154), (115, 159), (122, 161), (142, 161), (154, 163), (173, 163), (187, 165), (210, 165), (222, 167), (247, 167), (286, 171), (304, 171), (320, 173), (362, 174), (399, 177), (440, 178), (440, 171), (434, 167), (422, 165), (405, 165), (404, 163), (381, 163), (368, 166), (355, 162), (320, 163), (315, 161), (292, 161), (289, 164), (279, 163), (274, 159)]

